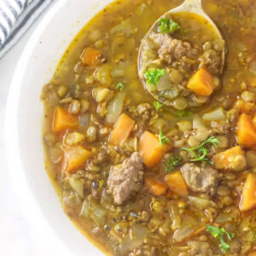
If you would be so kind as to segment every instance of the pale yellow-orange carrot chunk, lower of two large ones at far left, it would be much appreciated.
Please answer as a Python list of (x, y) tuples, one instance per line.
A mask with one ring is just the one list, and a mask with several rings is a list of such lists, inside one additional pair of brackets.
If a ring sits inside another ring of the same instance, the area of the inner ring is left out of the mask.
[(91, 152), (81, 146), (64, 149), (64, 170), (75, 173), (90, 158)]

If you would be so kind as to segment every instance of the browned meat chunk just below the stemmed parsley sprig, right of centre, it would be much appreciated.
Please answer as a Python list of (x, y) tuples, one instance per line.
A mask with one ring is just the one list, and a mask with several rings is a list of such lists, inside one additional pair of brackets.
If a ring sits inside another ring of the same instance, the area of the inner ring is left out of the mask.
[(189, 163), (182, 167), (183, 178), (189, 189), (195, 193), (213, 195), (218, 182), (218, 172), (210, 166), (196, 166)]

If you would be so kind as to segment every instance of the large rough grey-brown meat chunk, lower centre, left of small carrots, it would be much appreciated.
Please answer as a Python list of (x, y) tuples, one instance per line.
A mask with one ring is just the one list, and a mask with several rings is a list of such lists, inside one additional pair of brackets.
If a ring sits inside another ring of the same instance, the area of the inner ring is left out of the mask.
[(124, 160), (122, 165), (111, 167), (108, 193), (113, 195), (116, 204), (122, 204), (140, 189), (143, 180), (143, 161), (143, 157), (136, 152)]

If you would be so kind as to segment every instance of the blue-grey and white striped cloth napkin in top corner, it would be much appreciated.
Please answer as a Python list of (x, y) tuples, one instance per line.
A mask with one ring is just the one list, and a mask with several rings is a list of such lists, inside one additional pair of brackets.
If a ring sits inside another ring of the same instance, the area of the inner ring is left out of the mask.
[(0, 59), (53, 0), (0, 0)]

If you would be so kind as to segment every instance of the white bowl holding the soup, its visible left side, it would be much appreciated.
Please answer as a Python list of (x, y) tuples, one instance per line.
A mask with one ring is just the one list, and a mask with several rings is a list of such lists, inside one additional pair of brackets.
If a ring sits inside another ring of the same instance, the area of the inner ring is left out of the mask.
[[(59, 0), (33, 33), (10, 86), (5, 119), (9, 175), (20, 207), (38, 232), (55, 232), (70, 255), (102, 255), (61, 209), (44, 169), (40, 93), (79, 30), (112, 0)], [(44, 231), (43, 231), (44, 230)], [(57, 242), (57, 241), (56, 241)]]

